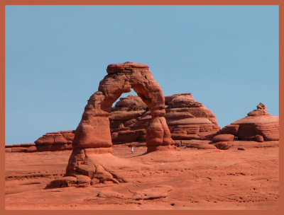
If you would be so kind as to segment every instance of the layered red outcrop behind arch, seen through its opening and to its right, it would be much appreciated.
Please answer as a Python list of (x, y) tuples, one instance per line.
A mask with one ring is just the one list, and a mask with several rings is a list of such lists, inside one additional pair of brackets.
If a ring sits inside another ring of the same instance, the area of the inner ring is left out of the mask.
[[(175, 140), (210, 139), (220, 129), (214, 113), (195, 102), (191, 93), (165, 96), (165, 111), (165, 120)], [(116, 103), (109, 120), (114, 144), (145, 141), (151, 114), (138, 96), (129, 95)]]

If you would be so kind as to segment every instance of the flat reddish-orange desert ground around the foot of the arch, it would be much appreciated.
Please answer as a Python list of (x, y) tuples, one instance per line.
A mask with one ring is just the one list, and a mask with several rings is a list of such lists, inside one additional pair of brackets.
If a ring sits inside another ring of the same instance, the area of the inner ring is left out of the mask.
[(45, 186), (65, 174), (72, 151), (6, 153), (6, 209), (278, 209), (278, 141), (234, 145), (133, 154), (114, 145), (98, 157), (126, 182), (55, 189)]

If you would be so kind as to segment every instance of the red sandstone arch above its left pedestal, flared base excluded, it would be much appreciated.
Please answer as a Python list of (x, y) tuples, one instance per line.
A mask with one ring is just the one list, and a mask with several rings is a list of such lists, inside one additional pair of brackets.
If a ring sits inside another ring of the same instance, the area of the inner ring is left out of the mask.
[(84, 108), (82, 120), (75, 132), (73, 147), (111, 151), (109, 149), (112, 146), (109, 129), (111, 105), (122, 93), (129, 93), (131, 88), (151, 111), (152, 120), (146, 131), (148, 151), (158, 150), (158, 146), (172, 145), (174, 142), (164, 117), (165, 98), (148, 66), (131, 62), (110, 64), (107, 73), (99, 83), (99, 91), (91, 95)]

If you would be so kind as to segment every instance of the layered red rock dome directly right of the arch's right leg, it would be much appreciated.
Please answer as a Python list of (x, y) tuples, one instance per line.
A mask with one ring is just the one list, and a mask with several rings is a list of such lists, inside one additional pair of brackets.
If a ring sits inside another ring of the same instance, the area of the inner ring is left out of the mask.
[(173, 139), (210, 139), (220, 129), (214, 113), (196, 102), (191, 93), (166, 96), (165, 105)]

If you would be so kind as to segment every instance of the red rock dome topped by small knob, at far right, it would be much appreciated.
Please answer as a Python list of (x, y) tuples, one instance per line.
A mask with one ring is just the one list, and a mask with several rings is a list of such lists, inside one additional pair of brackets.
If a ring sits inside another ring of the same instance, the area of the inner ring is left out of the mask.
[(259, 103), (248, 116), (226, 125), (219, 134), (234, 134), (239, 140), (279, 140), (279, 117), (268, 114), (266, 105)]

